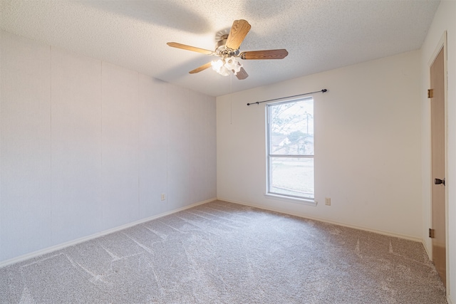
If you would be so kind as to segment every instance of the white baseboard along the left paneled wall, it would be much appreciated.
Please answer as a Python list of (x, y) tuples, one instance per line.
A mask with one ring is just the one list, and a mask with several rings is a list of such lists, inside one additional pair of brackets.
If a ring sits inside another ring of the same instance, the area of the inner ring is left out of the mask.
[(125, 225), (122, 225), (122, 226), (118, 226), (118, 227), (115, 227), (115, 228), (112, 228), (112, 229), (101, 231), (101, 232), (98, 232), (96, 234), (91, 234), (90, 236), (84, 236), (84, 237), (82, 237), (80, 239), (76, 239), (76, 240), (73, 240), (73, 241), (68, 241), (68, 242), (61, 243), (61, 244), (58, 244), (58, 245), (55, 245), (55, 246), (51, 246), (51, 247), (48, 247), (48, 248), (44, 248), (44, 249), (41, 249), (41, 250), (38, 250), (38, 251), (33, 251), (31, 253), (26, 253), (26, 254), (24, 254), (22, 256), (18, 256), (16, 258), (11, 258), (11, 259), (6, 260), (6, 261), (1, 261), (0, 262), (0, 268), (1, 267), (5, 267), (5, 266), (9, 266), (9, 265), (14, 264), (14, 263), (19, 263), (21, 261), (26, 261), (29, 258), (36, 258), (37, 256), (42, 256), (43, 254), (46, 254), (46, 253), (51, 253), (53, 251), (58, 251), (60, 249), (66, 248), (66, 247), (76, 245), (78, 243), (83, 243), (85, 241), (90, 241), (91, 239), (96, 239), (96, 238), (99, 238), (100, 236), (105, 236), (107, 234), (112, 234), (113, 232), (117, 232), (117, 231), (120, 231), (120, 230), (123, 230), (123, 229), (127, 229), (127, 228), (130, 228), (130, 227), (136, 226), (138, 224), (145, 223), (146, 221), (152, 221), (152, 219), (158, 219), (158, 218), (163, 217), (163, 216), (167, 216), (167, 215), (170, 215), (170, 214), (175, 214), (176, 212), (183, 211), (185, 209), (190, 209), (192, 207), (195, 207), (195, 206), (198, 206), (198, 205), (201, 205), (201, 204), (206, 204), (206, 203), (209, 203), (210, 201), (215, 201), (215, 200), (217, 200), (217, 198), (207, 199), (205, 201), (199, 201), (199, 202), (197, 202), (195, 204), (191, 204), (191, 205), (188, 205), (188, 206), (185, 206), (185, 207), (182, 207), (182, 208), (179, 208), (179, 209), (175, 209), (175, 210), (172, 210), (172, 211), (167, 211), (167, 212), (164, 212), (162, 214), (157, 214), (157, 215), (154, 215), (154, 216), (150, 216), (150, 217), (147, 217), (146, 219), (140, 219), (138, 221), (133, 221), (131, 223), (128, 223), (128, 224), (125, 224)]

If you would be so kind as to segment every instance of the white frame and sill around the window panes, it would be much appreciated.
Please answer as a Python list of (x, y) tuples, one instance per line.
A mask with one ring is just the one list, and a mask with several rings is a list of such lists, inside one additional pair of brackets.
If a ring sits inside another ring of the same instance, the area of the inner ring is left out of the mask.
[[(315, 199), (315, 146), (314, 153), (309, 154), (271, 154), (271, 110), (270, 107), (274, 105), (282, 105), (286, 103), (297, 103), (299, 101), (312, 100), (314, 103), (314, 98), (312, 96), (306, 98), (292, 98), (287, 100), (281, 100), (276, 103), (267, 103), (266, 104), (266, 193), (265, 196), (270, 198), (279, 199), (282, 201), (291, 201), (300, 204), (309, 204), (311, 206), (316, 206)], [(313, 113), (314, 115), (314, 113)], [(272, 158), (291, 158), (291, 159), (313, 159), (314, 160), (314, 197), (307, 196), (296, 196), (292, 194), (283, 194), (277, 192), (271, 192), (271, 181), (272, 181), (272, 170), (271, 170), (271, 159)]]

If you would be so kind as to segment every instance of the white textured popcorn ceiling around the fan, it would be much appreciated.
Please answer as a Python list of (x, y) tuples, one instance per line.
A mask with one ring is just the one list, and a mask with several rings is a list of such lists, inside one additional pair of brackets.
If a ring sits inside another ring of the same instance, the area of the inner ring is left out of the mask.
[[(422, 45), (439, 1), (418, 0), (1, 0), (1, 28), (212, 96), (268, 85)], [(236, 19), (252, 25), (241, 51), (286, 48), (282, 60), (242, 61), (246, 80), (212, 69), (214, 50)]]

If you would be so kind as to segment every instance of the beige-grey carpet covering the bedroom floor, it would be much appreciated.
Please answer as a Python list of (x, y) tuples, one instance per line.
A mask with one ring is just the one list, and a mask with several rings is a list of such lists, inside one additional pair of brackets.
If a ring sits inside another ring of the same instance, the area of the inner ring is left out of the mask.
[(447, 303), (423, 245), (214, 201), (0, 268), (0, 303)]

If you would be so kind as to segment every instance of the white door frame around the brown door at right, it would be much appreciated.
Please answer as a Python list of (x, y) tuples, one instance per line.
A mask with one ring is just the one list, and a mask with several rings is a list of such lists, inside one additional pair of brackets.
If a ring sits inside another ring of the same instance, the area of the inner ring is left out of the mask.
[[(447, 78), (447, 58), (448, 58), (448, 52), (447, 52), (447, 31), (444, 31), (442, 34), (442, 37), (440, 38), (440, 41), (437, 43), (437, 47), (435, 48), (435, 51), (432, 53), (432, 56), (430, 57), (430, 61), (427, 63), (427, 73), (428, 73), (428, 88), (430, 88), (430, 68), (432, 64), (434, 63), (435, 59), (437, 58), (438, 54), (440, 51), (443, 49), (443, 73), (444, 73), (444, 96), (445, 96), (445, 180), (447, 181), (447, 175), (448, 175), (448, 78)], [(430, 112), (430, 104), (429, 104), (429, 142), (432, 140), (432, 132), (430, 130), (431, 124), (431, 112)], [(429, 178), (429, 189), (430, 189), (430, 204), (429, 204), (429, 223), (430, 227), (432, 228), (432, 180), (434, 177), (432, 177), (432, 147), (430, 145), (430, 153), (429, 153), (429, 168), (430, 168), (430, 178)], [(445, 268), (446, 268), (446, 292), (447, 296), (450, 295), (450, 256), (449, 256), (449, 248), (448, 248), (448, 243), (449, 243), (449, 223), (448, 223), (448, 187), (449, 184), (447, 183), (445, 187)], [(431, 246), (428, 248), (428, 252), (430, 253), (430, 257), (433, 259), (433, 252), (432, 252), (432, 241), (431, 241)]]

